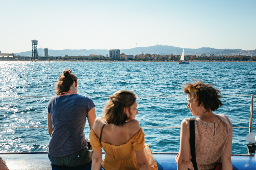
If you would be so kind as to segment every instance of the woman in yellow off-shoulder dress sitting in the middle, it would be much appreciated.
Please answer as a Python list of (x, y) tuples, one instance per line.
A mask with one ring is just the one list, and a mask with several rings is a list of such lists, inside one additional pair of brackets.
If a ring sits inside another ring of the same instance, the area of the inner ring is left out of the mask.
[[(115, 92), (108, 100), (103, 117), (98, 117), (90, 132), (94, 150), (92, 170), (157, 170), (152, 151), (145, 144), (143, 129), (135, 120), (138, 114), (136, 95), (131, 91)], [(102, 160), (102, 147), (105, 158)]]

